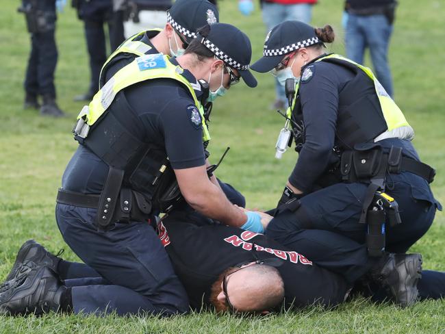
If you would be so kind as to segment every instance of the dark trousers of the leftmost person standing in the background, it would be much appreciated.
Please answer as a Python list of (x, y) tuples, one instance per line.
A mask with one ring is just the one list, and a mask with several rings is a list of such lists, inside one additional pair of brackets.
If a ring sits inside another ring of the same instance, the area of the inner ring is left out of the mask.
[(25, 77), (25, 91), (55, 99), (54, 72), (58, 61), (54, 29), (31, 34), (31, 53)]

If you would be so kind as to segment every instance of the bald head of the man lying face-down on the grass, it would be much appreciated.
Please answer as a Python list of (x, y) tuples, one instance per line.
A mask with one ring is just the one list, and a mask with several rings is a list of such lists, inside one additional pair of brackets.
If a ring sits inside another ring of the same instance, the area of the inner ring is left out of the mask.
[(283, 301), (284, 283), (277, 268), (251, 264), (225, 276), (227, 296), (222, 291), (221, 281), (218, 289), (220, 293), (217, 300), (213, 300), (218, 303), (218, 311), (227, 310), (226, 297), (233, 308), (240, 312), (268, 311)]

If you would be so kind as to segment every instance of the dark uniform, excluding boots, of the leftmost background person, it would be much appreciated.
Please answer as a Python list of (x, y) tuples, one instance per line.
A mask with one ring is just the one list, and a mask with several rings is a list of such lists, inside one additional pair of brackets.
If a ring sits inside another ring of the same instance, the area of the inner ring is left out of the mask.
[[(28, 24), (31, 33), (31, 53), (29, 55), (25, 91), (31, 99), (38, 95), (55, 99), (54, 72), (58, 60), (58, 50), (55, 45), (55, 0), (22, 1), (23, 10), (31, 10), (27, 14), (35, 16), (35, 24)], [(41, 20), (44, 18), (44, 20)], [(33, 18), (31, 18), (32, 20)], [(27, 20), (29, 22), (29, 20)], [(44, 25), (39, 23), (44, 22)]]

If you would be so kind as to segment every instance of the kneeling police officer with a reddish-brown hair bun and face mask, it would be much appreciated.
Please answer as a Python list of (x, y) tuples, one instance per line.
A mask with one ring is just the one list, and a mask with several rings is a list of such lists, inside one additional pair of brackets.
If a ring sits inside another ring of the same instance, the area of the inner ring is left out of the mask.
[[(440, 207), (429, 188), (434, 170), (419, 162), (411, 144), (414, 130), (372, 72), (325, 53), (324, 43), (333, 39), (329, 25), (314, 29), (286, 21), (270, 31), (263, 57), (252, 66), (271, 71), (283, 84), (297, 82), (295, 94), (288, 89), (290, 107), (282, 132), (294, 133), (298, 160), (267, 234), (294, 249), (305, 229), (335, 231), (340, 235), (329, 239), (320, 233), (321, 242), (330, 244), (333, 253), (343, 253), (345, 240), (365, 243), (367, 225), (359, 221), (366, 222), (376, 191), (386, 190), (398, 203), (402, 221), (383, 224), (386, 251), (405, 253), (427, 232)], [(393, 261), (390, 255), (382, 259), (375, 261)], [(396, 266), (420, 270), (420, 255), (395, 260)], [(418, 277), (414, 271), (401, 279), (414, 287)], [(417, 295), (411, 292), (411, 297)], [(396, 298), (402, 305), (414, 301)]]

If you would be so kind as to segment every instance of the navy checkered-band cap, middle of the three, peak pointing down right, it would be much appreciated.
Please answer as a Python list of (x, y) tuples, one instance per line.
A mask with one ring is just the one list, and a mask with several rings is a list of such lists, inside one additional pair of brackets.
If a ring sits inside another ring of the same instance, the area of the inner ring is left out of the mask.
[(247, 86), (257, 86), (257, 80), (249, 71), (252, 57), (251, 40), (244, 32), (227, 23), (215, 23), (210, 26), (207, 37), (198, 34), (197, 38), (218, 59), (223, 60), (230, 68), (238, 70)]

